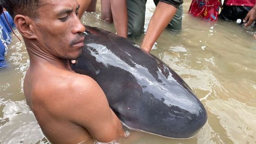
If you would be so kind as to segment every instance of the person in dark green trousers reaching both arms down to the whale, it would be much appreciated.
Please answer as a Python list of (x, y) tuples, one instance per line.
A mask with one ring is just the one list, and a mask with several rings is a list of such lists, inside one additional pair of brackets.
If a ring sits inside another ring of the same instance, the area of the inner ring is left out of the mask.
[[(101, 0), (102, 19), (114, 21), (116, 33), (127, 38), (138, 38), (144, 33), (147, 0)], [(160, 34), (169, 27), (179, 31), (182, 28), (183, 0), (154, 0), (156, 5), (141, 49), (150, 52)]]

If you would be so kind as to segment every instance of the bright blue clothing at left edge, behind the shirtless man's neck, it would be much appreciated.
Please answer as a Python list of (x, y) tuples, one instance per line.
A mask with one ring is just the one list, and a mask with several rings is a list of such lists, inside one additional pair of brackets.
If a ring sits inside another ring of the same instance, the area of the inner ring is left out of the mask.
[[(10, 16), (10, 14), (6, 11), (4, 13), (10, 26), (14, 27), (15, 26), (14, 21)], [(6, 66), (6, 61), (4, 56), (8, 50), (7, 45), (11, 43), (11, 36), (9, 34), (11, 32), (11, 29), (5, 20), (5, 16), (4, 14), (0, 15), (0, 41), (1, 41), (0, 42), (0, 68)]]

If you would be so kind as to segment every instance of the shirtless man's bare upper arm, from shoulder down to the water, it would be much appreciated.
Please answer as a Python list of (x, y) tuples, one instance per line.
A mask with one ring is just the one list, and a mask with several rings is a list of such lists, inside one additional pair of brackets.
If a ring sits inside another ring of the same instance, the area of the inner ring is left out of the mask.
[(70, 117), (83, 126), (92, 138), (110, 142), (124, 136), (122, 124), (109, 107), (104, 92), (92, 78), (80, 75), (72, 84), (74, 88), (73, 112)]

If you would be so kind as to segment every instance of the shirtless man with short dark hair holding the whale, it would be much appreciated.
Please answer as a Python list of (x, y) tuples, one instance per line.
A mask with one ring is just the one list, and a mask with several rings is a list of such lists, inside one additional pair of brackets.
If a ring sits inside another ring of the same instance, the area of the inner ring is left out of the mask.
[(54, 144), (78, 144), (123, 136), (100, 86), (69, 65), (84, 45), (77, 0), (1, 0), (0, 6), (23, 36), (30, 58), (24, 94), (46, 137)]

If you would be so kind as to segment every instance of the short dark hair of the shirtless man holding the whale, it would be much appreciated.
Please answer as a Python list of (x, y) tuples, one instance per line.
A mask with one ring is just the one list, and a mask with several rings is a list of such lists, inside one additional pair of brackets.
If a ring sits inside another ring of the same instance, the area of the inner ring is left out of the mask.
[(42, 5), (42, 0), (0, 0), (0, 11), (5, 8), (12, 18), (17, 14), (26, 15), (36, 19), (37, 9)]

